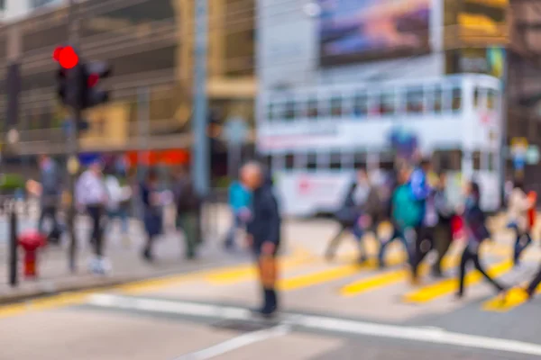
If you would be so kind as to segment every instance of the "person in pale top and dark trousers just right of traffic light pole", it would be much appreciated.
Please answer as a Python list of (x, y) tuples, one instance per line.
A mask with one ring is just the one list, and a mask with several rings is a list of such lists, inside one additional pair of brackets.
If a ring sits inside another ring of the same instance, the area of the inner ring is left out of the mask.
[(76, 184), (76, 202), (79, 209), (87, 211), (92, 220), (91, 242), (94, 245), (95, 258), (90, 262), (90, 270), (96, 274), (104, 274), (110, 270), (103, 254), (102, 218), (108, 195), (103, 178), (103, 166), (95, 161), (79, 176)]

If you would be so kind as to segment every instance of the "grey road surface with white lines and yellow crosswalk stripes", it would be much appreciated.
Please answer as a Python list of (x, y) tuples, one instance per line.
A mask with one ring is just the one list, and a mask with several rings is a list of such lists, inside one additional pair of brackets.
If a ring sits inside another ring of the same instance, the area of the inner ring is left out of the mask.
[[(323, 253), (335, 229), (325, 221), (288, 225), (293, 251), (281, 259), (280, 302), (274, 320), (261, 320), (252, 266), (212, 270), (71, 293), (0, 308), (0, 360), (30, 359), (532, 359), (541, 357), (541, 296), (524, 302), (494, 296), (469, 275), (465, 299), (454, 297), (454, 244), (445, 279), (424, 274), (409, 284), (399, 244), (386, 269), (354, 265), (354, 244), (335, 262)], [(513, 268), (509, 233), (482, 249), (500, 281), (531, 278), (541, 258), (530, 247)], [(369, 246), (373, 253), (374, 245)]]

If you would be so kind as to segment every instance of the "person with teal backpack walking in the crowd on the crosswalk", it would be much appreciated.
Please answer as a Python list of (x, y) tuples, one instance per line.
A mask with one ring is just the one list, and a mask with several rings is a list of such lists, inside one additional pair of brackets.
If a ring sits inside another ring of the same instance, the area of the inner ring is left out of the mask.
[(417, 226), (417, 219), (420, 216), (421, 208), (418, 202), (414, 201), (409, 189), (409, 175), (411, 171), (404, 166), (399, 169), (398, 186), (391, 195), (390, 202), (390, 223), (392, 235), (387, 241), (381, 241), (378, 260), (380, 267), (385, 267), (385, 250), (394, 240), (398, 239), (406, 249), (408, 262), (411, 262), (411, 245), (413, 243), (413, 232)]

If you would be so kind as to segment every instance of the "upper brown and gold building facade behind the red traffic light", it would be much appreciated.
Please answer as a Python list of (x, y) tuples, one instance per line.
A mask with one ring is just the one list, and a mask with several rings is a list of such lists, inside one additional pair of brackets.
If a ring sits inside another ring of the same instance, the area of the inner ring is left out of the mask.
[[(65, 3), (28, 0), (26, 14), (16, 9), (21, 15), (8, 17), (0, 27), (0, 71), (6, 71), (8, 50), (20, 49), (17, 128), (25, 153), (65, 152), (62, 124), (69, 115), (56, 98), (58, 64), (51, 58), (53, 49), (68, 41)], [(209, 105), (221, 121), (230, 116), (252, 121), (253, 0), (208, 3)], [(78, 4), (78, 16), (83, 58), (106, 60), (113, 67), (103, 84), (112, 100), (85, 114), (90, 128), (80, 139), (81, 150), (189, 148), (194, 0), (87, 0)], [(6, 84), (1, 81), (0, 122), (5, 123)]]

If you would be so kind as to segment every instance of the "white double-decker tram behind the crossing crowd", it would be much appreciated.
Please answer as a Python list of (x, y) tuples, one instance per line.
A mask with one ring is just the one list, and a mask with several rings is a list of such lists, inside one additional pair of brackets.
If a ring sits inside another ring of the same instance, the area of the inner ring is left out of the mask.
[[(354, 169), (390, 168), (390, 133), (415, 134), (417, 147), (450, 173), (481, 185), (481, 206), (500, 207), (500, 79), (478, 74), (263, 91), (257, 148), (275, 175), (286, 214), (337, 210)], [(381, 177), (379, 177), (381, 178)]]

